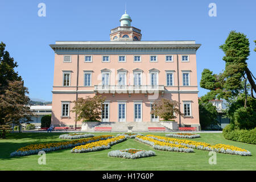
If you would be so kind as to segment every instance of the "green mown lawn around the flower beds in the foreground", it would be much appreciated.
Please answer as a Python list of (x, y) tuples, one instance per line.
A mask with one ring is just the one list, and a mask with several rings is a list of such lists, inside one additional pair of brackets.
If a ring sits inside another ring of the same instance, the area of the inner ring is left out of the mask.
[[(192, 140), (210, 144), (230, 144), (249, 150), (252, 156), (217, 153), (217, 164), (210, 165), (209, 152), (194, 150), (193, 153), (154, 150), (135, 139), (115, 144), (109, 150), (73, 154), (67, 150), (46, 153), (46, 165), (38, 164), (38, 155), (11, 157), (10, 153), (28, 144), (64, 141), (61, 133), (14, 133), (0, 139), (0, 170), (256, 170), (256, 146), (226, 140), (221, 133), (200, 133), (201, 138)], [(118, 133), (94, 133), (94, 135)], [(142, 133), (165, 136), (166, 133)], [(66, 139), (67, 140), (67, 139)], [(125, 148), (155, 151), (156, 156), (139, 159), (110, 158), (108, 152)]]

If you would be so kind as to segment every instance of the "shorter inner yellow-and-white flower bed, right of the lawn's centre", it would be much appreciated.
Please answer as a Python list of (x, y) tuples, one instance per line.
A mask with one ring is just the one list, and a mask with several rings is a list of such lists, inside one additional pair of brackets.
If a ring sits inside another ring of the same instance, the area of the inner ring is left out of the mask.
[(167, 142), (160, 142), (159, 140), (150, 137), (138, 136), (135, 138), (139, 142), (149, 144), (156, 150), (175, 151), (175, 152), (193, 152), (192, 148), (183, 146), (181, 144), (173, 144)]

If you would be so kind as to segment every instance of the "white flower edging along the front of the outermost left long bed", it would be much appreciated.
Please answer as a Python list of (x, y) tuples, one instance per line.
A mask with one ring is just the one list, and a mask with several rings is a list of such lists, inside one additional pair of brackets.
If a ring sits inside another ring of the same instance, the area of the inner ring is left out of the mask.
[[(113, 137), (108, 137), (108, 138), (104, 138), (104, 139), (101, 139), (101, 140), (106, 140), (106, 139), (109, 139), (109, 138), (113, 138)], [(26, 156), (26, 155), (38, 154), (39, 151), (51, 152), (51, 151), (55, 151), (55, 150), (63, 150), (65, 148), (81, 146), (82, 144), (97, 142), (99, 140), (100, 139), (89, 140), (87, 142), (82, 142), (82, 143), (67, 144), (67, 145), (61, 145), (61, 146), (57, 146), (57, 147), (42, 148), (42, 149), (30, 150), (30, 151), (14, 151), (14, 152), (11, 152), (10, 156)]]

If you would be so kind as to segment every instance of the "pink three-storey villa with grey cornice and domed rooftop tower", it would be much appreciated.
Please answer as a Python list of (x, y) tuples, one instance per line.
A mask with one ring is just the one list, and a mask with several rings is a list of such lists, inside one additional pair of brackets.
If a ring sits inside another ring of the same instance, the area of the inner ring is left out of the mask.
[(141, 41), (141, 30), (131, 26), (128, 14), (123, 14), (120, 22), (111, 30), (110, 41), (57, 41), (50, 45), (55, 52), (52, 124), (81, 127), (71, 111), (72, 101), (101, 94), (106, 97), (102, 122), (95, 125), (158, 126), (161, 118), (150, 114), (152, 104), (168, 98), (178, 101), (185, 114), (184, 118), (177, 115), (177, 125), (200, 130), (196, 51), (201, 44)]

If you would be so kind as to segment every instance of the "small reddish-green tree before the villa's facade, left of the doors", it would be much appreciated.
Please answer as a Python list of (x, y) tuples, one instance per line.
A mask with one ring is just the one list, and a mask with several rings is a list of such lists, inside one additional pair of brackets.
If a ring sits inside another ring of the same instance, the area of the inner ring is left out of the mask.
[(77, 101), (73, 101), (75, 106), (71, 110), (77, 114), (76, 121), (100, 121), (101, 119), (101, 107), (105, 97), (94, 96), (87, 98), (78, 98)]

